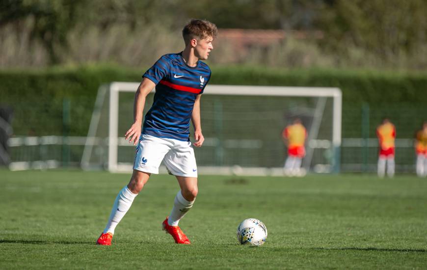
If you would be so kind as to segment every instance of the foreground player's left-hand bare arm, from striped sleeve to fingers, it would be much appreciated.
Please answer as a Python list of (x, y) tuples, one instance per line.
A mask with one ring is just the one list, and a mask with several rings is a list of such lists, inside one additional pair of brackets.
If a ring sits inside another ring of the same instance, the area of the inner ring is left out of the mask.
[(131, 128), (125, 133), (125, 140), (129, 139), (129, 143), (133, 142), (133, 145), (136, 145), (136, 142), (141, 135), (141, 126), (142, 126), (142, 117), (145, 105), (145, 99), (147, 95), (153, 90), (156, 84), (144, 78), (139, 84), (138, 89), (135, 93), (135, 100), (133, 103), (133, 124)]

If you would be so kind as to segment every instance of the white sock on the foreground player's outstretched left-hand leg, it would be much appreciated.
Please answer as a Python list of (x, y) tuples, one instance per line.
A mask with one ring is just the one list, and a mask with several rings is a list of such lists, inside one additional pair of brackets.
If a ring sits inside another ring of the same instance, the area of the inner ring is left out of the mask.
[(137, 194), (131, 192), (127, 186), (125, 186), (122, 190), (120, 190), (119, 194), (117, 194), (116, 200), (114, 201), (113, 208), (111, 209), (111, 214), (108, 219), (107, 226), (104, 229), (104, 233), (112, 233), (114, 234), (114, 229), (117, 224), (119, 224), (120, 220), (122, 220), (123, 216), (128, 212), (129, 208), (131, 208), (133, 199)]

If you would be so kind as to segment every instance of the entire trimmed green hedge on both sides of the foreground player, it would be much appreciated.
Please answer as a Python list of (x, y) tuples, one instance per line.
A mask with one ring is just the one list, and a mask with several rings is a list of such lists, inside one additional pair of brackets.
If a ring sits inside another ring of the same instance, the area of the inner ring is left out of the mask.
[[(213, 67), (211, 84), (328, 86), (343, 91), (344, 109), (376, 105), (427, 104), (427, 74), (342, 70), (280, 70)], [(114, 66), (0, 71), (0, 106), (14, 109), (15, 135), (61, 135), (63, 100), (71, 103), (70, 135), (86, 135), (99, 85), (140, 81), (140, 70)], [(343, 121), (346, 122), (346, 113)], [(348, 117), (351, 117), (348, 115)], [(68, 132), (68, 131), (67, 131)]]

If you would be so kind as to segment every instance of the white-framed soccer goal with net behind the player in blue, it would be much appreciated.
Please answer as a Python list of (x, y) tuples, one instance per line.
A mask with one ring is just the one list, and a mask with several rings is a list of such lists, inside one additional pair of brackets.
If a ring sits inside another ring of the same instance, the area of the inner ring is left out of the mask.
[[(135, 147), (125, 141), (124, 133), (133, 121), (138, 85), (112, 82), (99, 88), (81, 159), (83, 169), (132, 170)], [(153, 93), (154, 89), (144, 115)], [(203, 146), (195, 148), (200, 174), (281, 175), (287, 156), (281, 134), (295, 117), (308, 131), (302, 163), (306, 171), (340, 169), (342, 93), (338, 88), (208, 85), (200, 108), (205, 136)]]

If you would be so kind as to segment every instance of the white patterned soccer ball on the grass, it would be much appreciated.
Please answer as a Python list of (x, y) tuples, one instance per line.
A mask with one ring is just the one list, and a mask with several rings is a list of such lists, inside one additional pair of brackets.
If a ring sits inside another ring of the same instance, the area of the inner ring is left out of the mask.
[(262, 245), (267, 239), (267, 227), (261, 220), (248, 218), (237, 227), (237, 241), (240, 244)]

